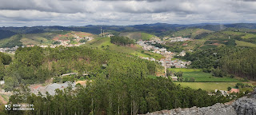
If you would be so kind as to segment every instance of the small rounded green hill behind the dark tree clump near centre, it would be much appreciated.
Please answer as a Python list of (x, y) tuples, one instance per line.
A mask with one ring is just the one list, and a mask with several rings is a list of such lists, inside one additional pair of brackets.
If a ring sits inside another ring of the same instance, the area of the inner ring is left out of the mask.
[(131, 39), (135, 39), (135, 40), (139, 40), (139, 39), (142, 39), (142, 40), (151, 40), (152, 38), (155, 38), (154, 35), (152, 34), (146, 34), (146, 33), (141, 33), (141, 32), (132, 32), (132, 33), (129, 33), (129, 32), (126, 32), (126, 33), (120, 33), (119, 36), (125, 36), (125, 37), (128, 37), (128, 38), (131, 38)]

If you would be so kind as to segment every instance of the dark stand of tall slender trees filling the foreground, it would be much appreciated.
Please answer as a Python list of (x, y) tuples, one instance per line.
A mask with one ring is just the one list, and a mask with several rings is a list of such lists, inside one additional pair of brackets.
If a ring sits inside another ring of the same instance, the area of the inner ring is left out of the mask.
[[(128, 77), (130, 76), (130, 77)], [(10, 104), (34, 104), (34, 111), (6, 111), (12, 114), (138, 114), (162, 109), (209, 106), (230, 101), (229, 97), (204, 90), (182, 88), (170, 79), (151, 79), (136, 74), (106, 77), (104, 72), (86, 86), (57, 89), (56, 95), (35, 95), (22, 87), (10, 97)]]

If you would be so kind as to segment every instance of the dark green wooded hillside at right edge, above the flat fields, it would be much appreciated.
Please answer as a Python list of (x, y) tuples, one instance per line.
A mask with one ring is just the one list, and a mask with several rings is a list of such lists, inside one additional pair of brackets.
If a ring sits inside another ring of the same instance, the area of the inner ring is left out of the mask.
[(217, 73), (218, 77), (230, 73), (255, 80), (255, 48), (222, 46), (214, 49), (197, 50), (180, 57), (192, 61), (190, 68), (205, 69)]

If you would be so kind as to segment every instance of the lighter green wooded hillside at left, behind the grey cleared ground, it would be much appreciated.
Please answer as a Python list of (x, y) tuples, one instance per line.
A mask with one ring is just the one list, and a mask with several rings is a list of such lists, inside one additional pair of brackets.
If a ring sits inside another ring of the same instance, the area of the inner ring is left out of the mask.
[[(102, 70), (104, 64), (107, 67)], [(127, 67), (117, 67), (122, 65)], [(138, 57), (127, 57), (125, 54), (86, 47), (19, 48), (13, 63), (6, 70), (5, 89), (11, 90), (18, 84), (42, 83), (50, 77), (58, 77), (63, 73), (78, 72), (80, 75), (88, 73), (90, 77), (95, 77), (101, 71), (107, 70), (105, 74), (111, 77), (116, 76), (114, 72), (117, 72), (117, 68), (120, 69), (118, 75), (131, 73), (145, 77), (147, 74), (155, 73), (156, 65), (153, 61)]]

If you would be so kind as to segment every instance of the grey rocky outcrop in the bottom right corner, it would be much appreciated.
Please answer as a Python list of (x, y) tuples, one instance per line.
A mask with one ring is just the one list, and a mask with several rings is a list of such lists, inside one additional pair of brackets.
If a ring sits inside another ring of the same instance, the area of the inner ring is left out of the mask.
[(256, 89), (246, 97), (241, 97), (231, 104), (215, 104), (209, 107), (162, 110), (146, 115), (256, 115)]

